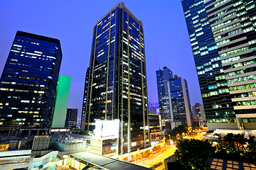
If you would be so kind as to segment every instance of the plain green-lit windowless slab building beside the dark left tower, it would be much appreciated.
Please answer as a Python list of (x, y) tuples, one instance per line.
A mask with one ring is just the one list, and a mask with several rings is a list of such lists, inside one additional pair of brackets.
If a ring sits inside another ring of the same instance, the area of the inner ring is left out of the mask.
[[(68, 96), (70, 91), (71, 77), (60, 75), (58, 79), (55, 105), (53, 109), (53, 120), (50, 128), (65, 128), (65, 115), (68, 107)], [(75, 120), (76, 121), (76, 120)]]

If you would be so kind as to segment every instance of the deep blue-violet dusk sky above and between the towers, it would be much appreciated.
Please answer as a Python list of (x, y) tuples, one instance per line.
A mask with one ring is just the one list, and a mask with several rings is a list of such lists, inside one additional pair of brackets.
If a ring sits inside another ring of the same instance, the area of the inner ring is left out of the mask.
[[(0, 0), (0, 74), (17, 30), (57, 38), (63, 52), (60, 74), (72, 77), (68, 108), (81, 115), (93, 27), (119, 1)], [(149, 102), (158, 102), (156, 70), (164, 66), (186, 79), (191, 106), (201, 103), (181, 0), (129, 0), (125, 6), (143, 23)]]

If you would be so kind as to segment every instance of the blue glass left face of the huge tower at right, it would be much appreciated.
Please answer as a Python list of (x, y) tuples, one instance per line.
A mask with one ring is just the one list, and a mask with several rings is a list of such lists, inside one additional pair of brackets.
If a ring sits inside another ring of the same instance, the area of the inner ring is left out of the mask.
[(207, 16), (204, 1), (206, 0), (182, 0), (181, 3), (191, 40), (208, 128), (215, 129), (218, 128), (219, 123), (235, 123), (236, 119), (228, 82), (210, 28), (212, 20)]

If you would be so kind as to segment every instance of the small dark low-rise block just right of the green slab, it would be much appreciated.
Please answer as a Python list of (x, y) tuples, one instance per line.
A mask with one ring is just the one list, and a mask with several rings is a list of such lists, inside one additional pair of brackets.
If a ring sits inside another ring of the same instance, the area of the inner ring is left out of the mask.
[(76, 128), (78, 120), (78, 108), (67, 108), (65, 117), (65, 128)]

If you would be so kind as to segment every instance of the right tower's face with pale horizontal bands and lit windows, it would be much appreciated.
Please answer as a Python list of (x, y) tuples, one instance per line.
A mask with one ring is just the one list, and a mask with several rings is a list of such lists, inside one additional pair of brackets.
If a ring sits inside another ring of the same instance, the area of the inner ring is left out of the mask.
[[(206, 1), (240, 129), (256, 128), (256, 1)], [(218, 92), (218, 91), (216, 91)]]

